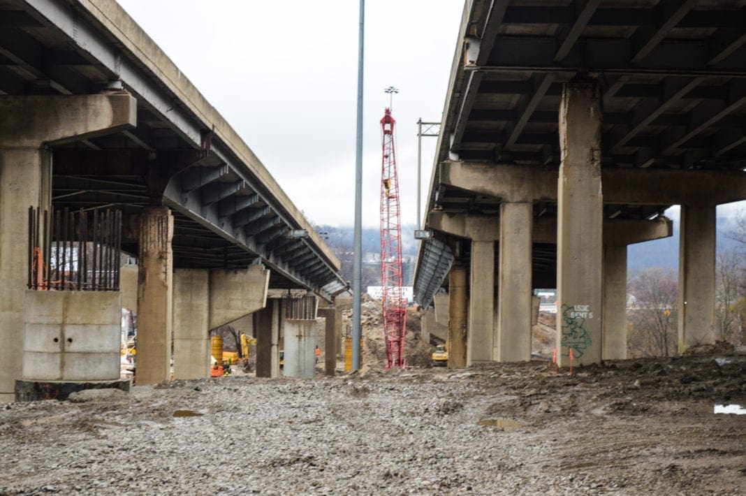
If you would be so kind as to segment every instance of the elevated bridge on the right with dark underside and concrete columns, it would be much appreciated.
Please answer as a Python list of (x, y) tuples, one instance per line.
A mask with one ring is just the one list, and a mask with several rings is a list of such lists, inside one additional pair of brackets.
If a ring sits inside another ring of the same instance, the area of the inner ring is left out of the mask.
[(424, 307), (448, 288), (429, 321), (451, 365), (530, 360), (548, 287), (561, 365), (626, 357), (627, 245), (671, 236), (676, 204), (679, 348), (714, 342), (715, 207), (746, 199), (745, 45), (742, 1), (466, 1), (415, 282)]

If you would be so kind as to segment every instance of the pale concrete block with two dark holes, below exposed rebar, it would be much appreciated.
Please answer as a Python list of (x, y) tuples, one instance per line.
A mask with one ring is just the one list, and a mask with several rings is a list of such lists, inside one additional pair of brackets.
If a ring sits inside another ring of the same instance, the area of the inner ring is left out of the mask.
[(122, 295), (27, 289), (22, 378), (119, 379)]

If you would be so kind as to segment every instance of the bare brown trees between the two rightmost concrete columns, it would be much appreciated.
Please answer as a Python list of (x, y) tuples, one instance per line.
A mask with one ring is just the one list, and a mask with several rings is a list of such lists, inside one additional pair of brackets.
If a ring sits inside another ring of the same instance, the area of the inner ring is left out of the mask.
[(668, 357), (677, 344), (678, 282), (673, 269), (653, 267), (630, 281), (628, 310), (631, 357)]

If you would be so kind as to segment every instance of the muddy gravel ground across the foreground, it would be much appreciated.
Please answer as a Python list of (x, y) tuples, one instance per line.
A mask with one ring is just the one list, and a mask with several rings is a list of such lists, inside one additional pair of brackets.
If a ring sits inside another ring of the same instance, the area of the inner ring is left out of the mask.
[(746, 354), (232, 376), (0, 405), (0, 494), (746, 494)]

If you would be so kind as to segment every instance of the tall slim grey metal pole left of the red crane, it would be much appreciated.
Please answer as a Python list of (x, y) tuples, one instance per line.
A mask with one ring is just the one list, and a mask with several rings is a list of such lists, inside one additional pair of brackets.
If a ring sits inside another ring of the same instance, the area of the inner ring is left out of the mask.
[(355, 237), (352, 283), (352, 370), (360, 370), (360, 284), (363, 271), (363, 43), (366, 1), (360, 0), (360, 34), (357, 51), (357, 148), (355, 151)]

